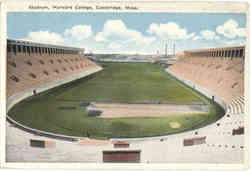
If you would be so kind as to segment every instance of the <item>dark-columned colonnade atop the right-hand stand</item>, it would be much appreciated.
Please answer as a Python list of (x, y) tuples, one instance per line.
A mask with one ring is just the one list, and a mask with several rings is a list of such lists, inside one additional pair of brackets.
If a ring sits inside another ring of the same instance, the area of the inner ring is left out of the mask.
[(205, 57), (225, 57), (241, 58), (245, 57), (245, 46), (210, 48), (201, 50), (184, 51), (188, 56), (205, 56)]

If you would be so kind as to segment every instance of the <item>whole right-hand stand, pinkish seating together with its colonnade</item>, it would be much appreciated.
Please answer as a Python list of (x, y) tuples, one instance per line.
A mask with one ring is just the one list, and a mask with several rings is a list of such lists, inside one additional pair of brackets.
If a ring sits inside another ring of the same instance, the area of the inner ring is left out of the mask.
[(244, 94), (244, 47), (185, 51), (169, 70), (214, 92), (226, 103)]

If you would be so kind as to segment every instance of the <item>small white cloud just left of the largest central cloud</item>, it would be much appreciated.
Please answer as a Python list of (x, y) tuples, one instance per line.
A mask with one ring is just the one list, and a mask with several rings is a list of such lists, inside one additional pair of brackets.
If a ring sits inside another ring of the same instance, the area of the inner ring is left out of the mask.
[(84, 40), (92, 36), (91, 25), (76, 25), (64, 31), (64, 36), (76, 40)]

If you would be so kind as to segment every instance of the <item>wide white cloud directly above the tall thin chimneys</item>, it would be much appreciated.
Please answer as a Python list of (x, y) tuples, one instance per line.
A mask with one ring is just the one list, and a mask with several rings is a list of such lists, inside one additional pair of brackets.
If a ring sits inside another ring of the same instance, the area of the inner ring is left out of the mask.
[(181, 28), (175, 22), (168, 22), (167, 24), (152, 23), (148, 30), (150, 34), (156, 34), (163, 39), (189, 39), (195, 36), (195, 33), (188, 33), (187, 29)]

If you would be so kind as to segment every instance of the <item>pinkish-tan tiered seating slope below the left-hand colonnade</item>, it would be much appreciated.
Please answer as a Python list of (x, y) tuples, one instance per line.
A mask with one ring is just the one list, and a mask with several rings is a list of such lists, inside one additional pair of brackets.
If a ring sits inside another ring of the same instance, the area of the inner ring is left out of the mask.
[(97, 67), (79, 54), (9, 52), (7, 61), (8, 97)]

